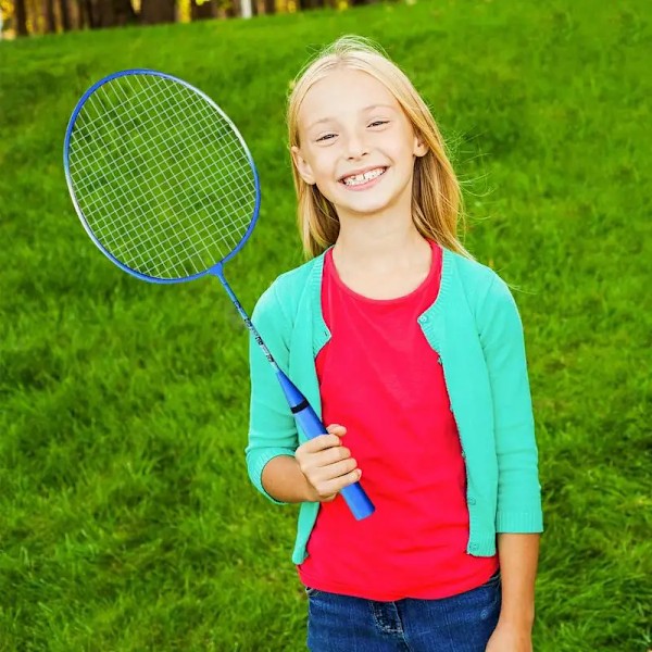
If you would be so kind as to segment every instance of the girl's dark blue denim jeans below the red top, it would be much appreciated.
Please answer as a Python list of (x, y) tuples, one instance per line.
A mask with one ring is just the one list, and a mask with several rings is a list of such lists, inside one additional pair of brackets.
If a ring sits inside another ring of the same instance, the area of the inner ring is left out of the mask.
[(311, 652), (485, 652), (501, 606), (500, 569), (487, 584), (440, 600), (306, 592)]

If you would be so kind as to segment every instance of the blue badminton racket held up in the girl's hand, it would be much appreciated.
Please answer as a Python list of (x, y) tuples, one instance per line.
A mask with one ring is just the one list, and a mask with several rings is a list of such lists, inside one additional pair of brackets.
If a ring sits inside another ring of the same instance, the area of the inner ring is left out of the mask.
[[(224, 277), (258, 220), (253, 159), (228, 116), (171, 75), (129, 70), (91, 86), (64, 140), (75, 210), (91, 240), (121, 269), (151, 283), (216, 276), (269, 361), (306, 437), (327, 434), (279, 368)], [(356, 519), (374, 512), (359, 482), (341, 490)]]

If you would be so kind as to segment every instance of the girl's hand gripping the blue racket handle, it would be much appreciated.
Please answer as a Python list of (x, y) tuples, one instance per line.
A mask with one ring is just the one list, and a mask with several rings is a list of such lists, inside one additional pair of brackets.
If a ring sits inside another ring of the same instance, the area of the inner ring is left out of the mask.
[(302, 443), (294, 452), (301, 473), (309, 486), (308, 500), (330, 502), (344, 487), (360, 479), (362, 472), (351, 451), (342, 446), (347, 428), (333, 424), (328, 435), (319, 435)]

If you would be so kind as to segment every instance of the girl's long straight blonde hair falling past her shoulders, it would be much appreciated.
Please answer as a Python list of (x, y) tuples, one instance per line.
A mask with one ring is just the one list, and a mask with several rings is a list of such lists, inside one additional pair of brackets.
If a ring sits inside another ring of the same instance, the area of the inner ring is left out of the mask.
[[(428, 106), (406, 75), (377, 47), (359, 36), (343, 36), (324, 48), (297, 76), (288, 98), (287, 123), (290, 151), (300, 147), (299, 110), (310, 88), (338, 67), (365, 72), (396, 97), (427, 153), (417, 156), (412, 185), (412, 220), (418, 233), (442, 247), (475, 260), (457, 238), (464, 223), (463, 198), (446, 145)], [(337, 240), (339, 220), (333, 203), (316, 185), (305, 183), (292, 162), (298, 200), (298, 223), (306, 259), (322, 253)]]

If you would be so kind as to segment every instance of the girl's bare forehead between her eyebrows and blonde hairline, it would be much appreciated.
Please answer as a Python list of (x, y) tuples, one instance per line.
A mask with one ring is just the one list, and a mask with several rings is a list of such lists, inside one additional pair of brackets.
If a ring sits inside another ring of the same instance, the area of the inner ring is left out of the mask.
[(391, 91), (368, 73), (337, 68), (308, 90), (299, 111), (299, 122), (308, 128), (317, 121), (337, 120), (376, 104), (400, 110)]

